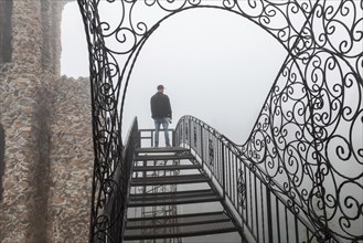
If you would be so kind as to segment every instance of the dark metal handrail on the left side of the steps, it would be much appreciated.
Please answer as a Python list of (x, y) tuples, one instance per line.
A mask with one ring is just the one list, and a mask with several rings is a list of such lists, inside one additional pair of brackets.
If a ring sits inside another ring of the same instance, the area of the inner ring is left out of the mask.
[[(134, 161), (135, 149), (139, 141), (138, 120), (129, 129), (125, 147), (121, 151), (114, 150), (113, 157), (121, 158), (116, 167), (107, 168), (110, 177), (100, 180), (99, 190), (105, 193), (103, 200), (103, 211), (93, 219), (90, 225), (90, 242), (109, 242), (117, 240), (122, 242), (122, 235), (126, 225), (127, 207), (126, 202), (129, 196), (129, 186), (131, 179), (131, 163)], [(113, 158), (110, 158), (111, 160)]]

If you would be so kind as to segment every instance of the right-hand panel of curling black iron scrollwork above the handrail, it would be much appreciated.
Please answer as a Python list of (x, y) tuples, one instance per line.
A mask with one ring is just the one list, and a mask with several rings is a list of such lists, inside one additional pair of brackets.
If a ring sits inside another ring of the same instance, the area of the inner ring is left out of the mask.
[(363, 189), (362, 7), (317, 4), (302, 30), (312, 40), (291, 50), (297, 59), (285, 63), (243, 148), (282, 182), (292, 209), (308, 209), (317, 228), (343, 241), (363, 236), (352, 226), (363, 202), (350, 194)]

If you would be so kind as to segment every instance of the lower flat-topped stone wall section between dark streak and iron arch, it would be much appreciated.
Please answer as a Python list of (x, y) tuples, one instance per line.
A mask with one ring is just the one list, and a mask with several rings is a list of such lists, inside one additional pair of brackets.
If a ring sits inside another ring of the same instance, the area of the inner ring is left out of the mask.
[(86, 78), (55, 85), (51, 123), (51, 242), (86, 242), (93, 178), (90, 89)]

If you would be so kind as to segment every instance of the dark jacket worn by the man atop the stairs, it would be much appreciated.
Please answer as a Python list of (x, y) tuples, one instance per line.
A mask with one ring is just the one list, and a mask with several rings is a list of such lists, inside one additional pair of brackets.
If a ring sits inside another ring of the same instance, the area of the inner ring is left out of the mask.
[(161, 118), (161, 117), (170, 117), (171, 118), (171, 106), (168, 95), (158, 92), (152, 95), (150, 99), (151, 104), (151, 117), (152, 118)]

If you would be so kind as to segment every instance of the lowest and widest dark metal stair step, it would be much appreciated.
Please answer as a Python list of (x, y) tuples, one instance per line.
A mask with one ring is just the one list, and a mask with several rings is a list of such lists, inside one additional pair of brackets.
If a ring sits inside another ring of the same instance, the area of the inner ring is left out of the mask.
[(128, 219), (124, 240), (196, 236), (237, 231), (224, 212)]

